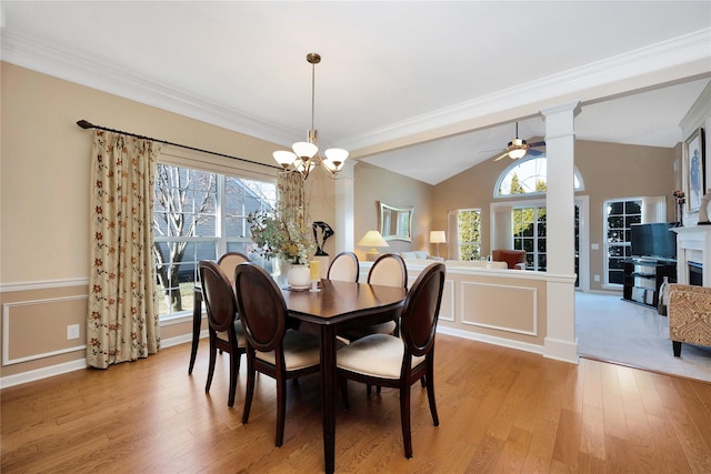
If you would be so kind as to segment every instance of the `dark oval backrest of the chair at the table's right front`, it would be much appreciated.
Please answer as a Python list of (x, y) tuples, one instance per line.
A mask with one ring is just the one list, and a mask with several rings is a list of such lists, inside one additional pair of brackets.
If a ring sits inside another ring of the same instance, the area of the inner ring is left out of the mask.
[(427, 266), (412, 284), (402, 305), (400, 337), (412, 355), (424, 355), (434, 345), (444, 272), (443, 263)]

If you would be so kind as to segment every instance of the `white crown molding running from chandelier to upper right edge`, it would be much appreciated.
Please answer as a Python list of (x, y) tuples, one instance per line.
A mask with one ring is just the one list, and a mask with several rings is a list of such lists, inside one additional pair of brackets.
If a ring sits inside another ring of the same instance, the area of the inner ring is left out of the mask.
[[(511, 117), (499, 117), (498, 120), (534, 115), (542, 107), (571, 100), (599, 100), (659, 83), (709, 74), (710, 48), (711, 28), (707, 28), (393, 123), (368, 134), (343, 140), (334, 147), (353, 150), (353, 154), (357, 154), (360, 148), (422, 134), (428, 130), (449, 128), (449, 134), (470, 131), (472, 128), (467, 122), (501, 114), (507, 110), (511, 111)], [(462, 127), (452, 127), (458, 123)]]

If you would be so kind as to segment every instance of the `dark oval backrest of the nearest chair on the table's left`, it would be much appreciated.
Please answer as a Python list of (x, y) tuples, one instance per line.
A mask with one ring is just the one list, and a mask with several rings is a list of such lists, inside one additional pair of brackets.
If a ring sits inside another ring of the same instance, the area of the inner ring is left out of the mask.
[(287, 303), (261, 266), (240, 263), (234, 270), (237, 306), (249, 344), (260, 352), (277, 349), (287, 332)]

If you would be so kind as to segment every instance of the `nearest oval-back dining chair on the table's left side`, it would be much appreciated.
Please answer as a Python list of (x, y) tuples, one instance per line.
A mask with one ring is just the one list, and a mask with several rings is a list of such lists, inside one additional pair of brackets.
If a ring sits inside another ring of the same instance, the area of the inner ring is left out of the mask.
[(247, 394), (242, 423), (249, 421), (257, 372), (277, 381), (277, 441), (284, 438), (287, 380), (319, 372), (320, 341), (313, 334), (287, 329), (287, 303), (262, 268), (241, 263), (234, 271), (237, 305), (247, 333)]

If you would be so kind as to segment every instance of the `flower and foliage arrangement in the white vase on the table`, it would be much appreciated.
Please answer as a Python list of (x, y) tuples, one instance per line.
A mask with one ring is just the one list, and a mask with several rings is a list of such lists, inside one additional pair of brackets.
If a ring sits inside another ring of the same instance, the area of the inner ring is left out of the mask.
[(316, 250), (301, 212), (294, 219), (283, 220), (260, 211), (249, 214), (247, 222), (257, 244), (256, 251), (267, 260), (277, 256), (292, 264), (307, 264)]

